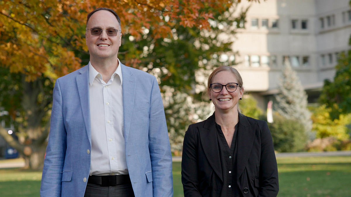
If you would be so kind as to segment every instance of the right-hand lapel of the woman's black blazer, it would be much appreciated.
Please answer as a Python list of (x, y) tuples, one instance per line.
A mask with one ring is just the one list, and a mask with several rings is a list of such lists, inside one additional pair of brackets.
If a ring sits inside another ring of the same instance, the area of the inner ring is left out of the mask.
[(237, 180), (243, 173), (247, 161), (250, 157), (254, 137), (256, 133), (256, 123), (250, 124), (246, 116), (239, 114), (238, 125), (238, 156), (237, 156)]

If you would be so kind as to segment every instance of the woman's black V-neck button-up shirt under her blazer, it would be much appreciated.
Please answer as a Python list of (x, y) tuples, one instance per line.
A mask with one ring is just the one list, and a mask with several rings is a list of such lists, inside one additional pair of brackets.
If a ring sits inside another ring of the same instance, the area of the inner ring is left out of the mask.
[(219, 157), (223, 173), (223, 188), (220, 197), (239, 197), (240, 192), (236, 181), (238, 124), (235, 125), (235, 131), (230, 148), (227, 143), (227, 140), (225, 139), (221, 126), (217, 123), (216, 129)]

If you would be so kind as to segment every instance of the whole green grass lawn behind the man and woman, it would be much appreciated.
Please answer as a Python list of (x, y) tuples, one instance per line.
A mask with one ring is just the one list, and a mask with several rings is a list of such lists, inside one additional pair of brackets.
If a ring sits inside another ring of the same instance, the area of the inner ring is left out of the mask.
[[(278, 197), (350, 197), (351, 156), (279, 157)], [(183, 196), (180, 162), (173, 162), (174, 197)], [(0, 169), (1, 197), (39, 196), (41, 172)]]

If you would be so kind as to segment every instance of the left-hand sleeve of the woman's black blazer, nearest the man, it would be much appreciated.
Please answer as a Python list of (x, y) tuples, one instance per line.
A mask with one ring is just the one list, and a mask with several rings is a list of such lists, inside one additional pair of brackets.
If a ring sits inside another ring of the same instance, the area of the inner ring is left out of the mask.
[(184, 197), (202, 197), (198, 181), (198, 144), (194, 136), (192, 125), (185, 132), (183, 154), (181, 158), (181, 182), (183, 183)]

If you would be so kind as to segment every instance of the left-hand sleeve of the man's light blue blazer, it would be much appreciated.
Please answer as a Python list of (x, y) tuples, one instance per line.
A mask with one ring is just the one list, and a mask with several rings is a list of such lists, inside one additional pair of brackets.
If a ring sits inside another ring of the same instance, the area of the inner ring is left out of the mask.
[(49, 141), (41, 178), (40, 196), (61, 196), (62, 169), (66, 154), (66, 129), (59, 80), (53, 90)]

